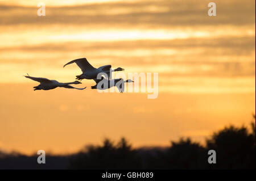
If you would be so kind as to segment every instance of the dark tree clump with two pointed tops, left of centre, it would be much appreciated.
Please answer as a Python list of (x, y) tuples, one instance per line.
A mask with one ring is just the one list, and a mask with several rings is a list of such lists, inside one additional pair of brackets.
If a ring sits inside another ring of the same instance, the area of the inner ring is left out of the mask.
[(139, 159), (121, 138), (117, 145), (106, 138), (102, 146), (88, 146), (71, 161), (72, 169), (136, 169)]

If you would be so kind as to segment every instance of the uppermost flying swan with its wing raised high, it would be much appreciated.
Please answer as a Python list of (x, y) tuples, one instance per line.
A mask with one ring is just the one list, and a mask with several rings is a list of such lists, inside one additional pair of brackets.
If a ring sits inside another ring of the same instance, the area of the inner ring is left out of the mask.
[[(108, 75), (108, 77), (110, 75), (111, 65), (105, 65), (105, 66), (101, 66), (99, 68), (94, 68), (92, 65), (90, 65), (90, 63), (87, 61), (86, 58), (79, 58), (76, 60), (72, 60), (72, 61), (68, 62), (67, 64), (65, 64), (63, 66), (63, 68), (66, 65), (73, 64), (73, 63), (76, 63), (77, 66), (79, 66), (79, 68), (82, 70), (81, 75), (76, 75), (76, 79), (78, 79), (78, 80), (94, 79), (94, 78), (97, 78), (97, 75), (99, 73), (106, 73)], [(112, 71), (123, 71), (123, 70), (125, 70), (125, 69), (117, 68)]]

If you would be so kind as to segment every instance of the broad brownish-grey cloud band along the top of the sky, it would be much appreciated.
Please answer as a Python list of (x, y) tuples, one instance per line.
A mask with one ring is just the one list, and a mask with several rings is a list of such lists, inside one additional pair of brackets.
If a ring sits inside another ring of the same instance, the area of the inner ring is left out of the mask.
[[(46, 7), (47, 15), (43, 18), (36, 15), (38, 7), (0, 6), (0, 24), (83, 24), (159, 28), (255, 23), (255, 1), (217, 1), (216, 4), (216, 17), (208, 16), (208, 2), (205, 1), (144, 1)], [(15, 13), (8, 14), (9, 11)], [(114, 11), (121, 13), (112, 14)], [(86, 12), (90, 13), (86, 15)]]

